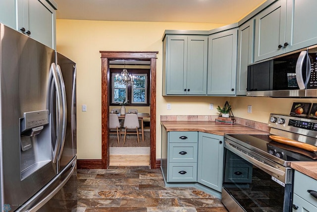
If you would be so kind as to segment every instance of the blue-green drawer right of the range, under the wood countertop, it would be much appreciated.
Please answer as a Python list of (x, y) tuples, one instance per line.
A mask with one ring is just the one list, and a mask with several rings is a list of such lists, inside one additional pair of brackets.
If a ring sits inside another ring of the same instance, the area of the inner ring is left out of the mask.
[(308, 190), (317, 192), (317, 180), (295, 171), (294, 173), (294, 193), (317, 207), (317, 198), (313, 197)]

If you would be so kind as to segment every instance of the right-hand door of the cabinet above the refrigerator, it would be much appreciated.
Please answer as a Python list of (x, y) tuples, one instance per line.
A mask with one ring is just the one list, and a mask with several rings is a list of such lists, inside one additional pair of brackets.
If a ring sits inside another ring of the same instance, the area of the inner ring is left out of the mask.
[(46, 0), (18, 0), (17, 30), (56, 49), (56, 12)]

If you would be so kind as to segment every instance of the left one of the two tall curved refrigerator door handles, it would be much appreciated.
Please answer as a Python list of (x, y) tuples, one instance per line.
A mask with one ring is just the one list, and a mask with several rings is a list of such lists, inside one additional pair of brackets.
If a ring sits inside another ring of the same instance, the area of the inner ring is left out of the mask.
[[(53, 163), (56, 163), (57, 161), (57, 154), (58, 154), (58, 147), (60, 146), (61, 143), (61, 134), (62, 134), (62, 96), (61, 96), (61, 89), (60, 89), (60, 82), (59, 82), (59, 78), (57, 75), (57, 71), (55, 68), (55, 64), (53, 63), (51, 65), (51, 73), (53, 75), (53, 84), (55, 85), (55, 89), (56, 89), (56, 114), (57, 114), (57, 135), (56, 135), (56, 143), (54, 146), (54, 150), (53, 150)], [(53, 104), (53, 102), (51, 102), (51, 104)], [(53, 108), (53, 105), (51, 105), (51, 108)], [(52, 114), (52, 111), (51, 111)]]

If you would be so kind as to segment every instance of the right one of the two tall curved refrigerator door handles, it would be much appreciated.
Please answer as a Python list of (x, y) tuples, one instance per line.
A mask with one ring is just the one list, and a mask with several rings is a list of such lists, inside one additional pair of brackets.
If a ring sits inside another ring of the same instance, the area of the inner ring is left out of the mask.
[(62, 98), (62, 133), (61, 133), (61, 143), (59, 148), (59, 155), (58, 160), (60, 160), (64, 144), (65, 144), (65, 137), (66, 137), (66, 125), (67, 125), (67, 105), (66, 105), (66, 90), (65, 90), (65, 83), (63, 79), (63, 75), (61, 74), (60, 66), (56, 66), (56, 71), (58, 74), (59, 82), (60, 82), (60, 88), (61, 88), (61, 98)]

